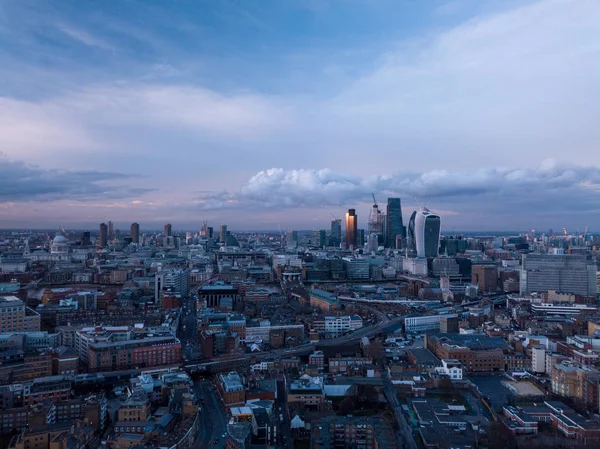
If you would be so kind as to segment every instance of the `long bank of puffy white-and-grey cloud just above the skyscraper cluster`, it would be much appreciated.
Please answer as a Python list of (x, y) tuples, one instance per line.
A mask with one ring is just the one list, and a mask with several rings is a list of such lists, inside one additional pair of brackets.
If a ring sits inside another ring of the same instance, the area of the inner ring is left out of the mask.
[[(409, 201), (433, 198), (439, 207), (483, 208), (490, 213), (503, 213), (519, 204), (532, 207), (533, 213), (557, 206), (569, 209), (574, 201), (600, 211), (600, 168), (548, 160), (534, 169), (432, 170), (365, 177), (329, 169), (272, 168), (252, 176), (237, 192), (204, 192), (196, 202), (204, 210), (341, 207), (369, 202), (371, 193), (381, 201), (384, 196)], [(495, 202), (498, 199), (501, 202)]]

